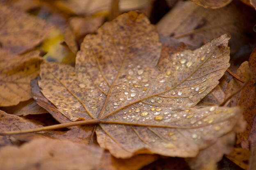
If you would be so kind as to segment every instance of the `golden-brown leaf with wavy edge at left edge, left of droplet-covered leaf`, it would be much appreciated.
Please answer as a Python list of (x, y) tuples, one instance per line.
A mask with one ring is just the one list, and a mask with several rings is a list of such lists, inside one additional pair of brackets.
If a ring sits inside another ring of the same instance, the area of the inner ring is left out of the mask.
[(0, 106), (17, 105), (31, 98), (30, 80), (39, 74), (39, 51), (23, 56), (0, 49)]

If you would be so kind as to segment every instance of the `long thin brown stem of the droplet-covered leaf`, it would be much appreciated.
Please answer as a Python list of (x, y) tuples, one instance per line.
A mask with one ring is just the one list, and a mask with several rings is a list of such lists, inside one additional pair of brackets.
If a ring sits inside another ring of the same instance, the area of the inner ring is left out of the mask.
[(67, 128), (71, 126), (98, 124), (98, 123), (100, 123), (99, 119), (88, 119), (85, 121), (76, 121), (76, 122), (70, 122), (70, 123), (62, 123), (58, 125), (45, 126), (42, 128), (34, 128), (34, 129), (28, 129), (28, 130), (15, 130), (10, 132), (0, 132), (0, 135), (24, 134), (24, 133), (40, 132), (44, 130), (55, 130), (55, 129)]

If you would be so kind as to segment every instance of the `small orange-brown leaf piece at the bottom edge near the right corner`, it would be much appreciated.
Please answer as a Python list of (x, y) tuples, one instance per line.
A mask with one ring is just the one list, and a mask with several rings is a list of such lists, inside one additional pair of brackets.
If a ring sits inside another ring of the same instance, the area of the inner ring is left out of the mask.
[(241, 168), (247, 170), (248, 162), (250, 158), (250, 151), (242, 148), (233, 148), (229, 155), (226, 155), (231, 161), (240, 166)]

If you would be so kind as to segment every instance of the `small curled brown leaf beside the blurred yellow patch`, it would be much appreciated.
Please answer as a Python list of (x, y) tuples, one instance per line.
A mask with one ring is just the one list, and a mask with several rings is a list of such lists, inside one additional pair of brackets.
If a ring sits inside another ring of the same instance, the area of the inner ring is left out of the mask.
[(69, 27), (66, 27), (65, 29), (64, 39), (61, 42), (61, 45), (69, 49), (69, 51), (71, 51), (74, 54), (76, 54), (76, 52), (78, 51), (78, 47), (75, 41), (75, 35)]

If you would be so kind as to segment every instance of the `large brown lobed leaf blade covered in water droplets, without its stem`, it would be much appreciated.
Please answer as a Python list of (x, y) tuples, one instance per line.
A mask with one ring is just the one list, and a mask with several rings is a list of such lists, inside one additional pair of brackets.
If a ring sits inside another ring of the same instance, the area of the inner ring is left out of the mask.
[(38, 84), (71, 121), (98, 119), (97, 141), (114, 157), (196, 157), (242, 121), (238, 107), (195, 106), (229, 67), (229, 38), (158, 63), (155, 27), (131, 11), (85, 37), (75, 68), (43, 63)]

